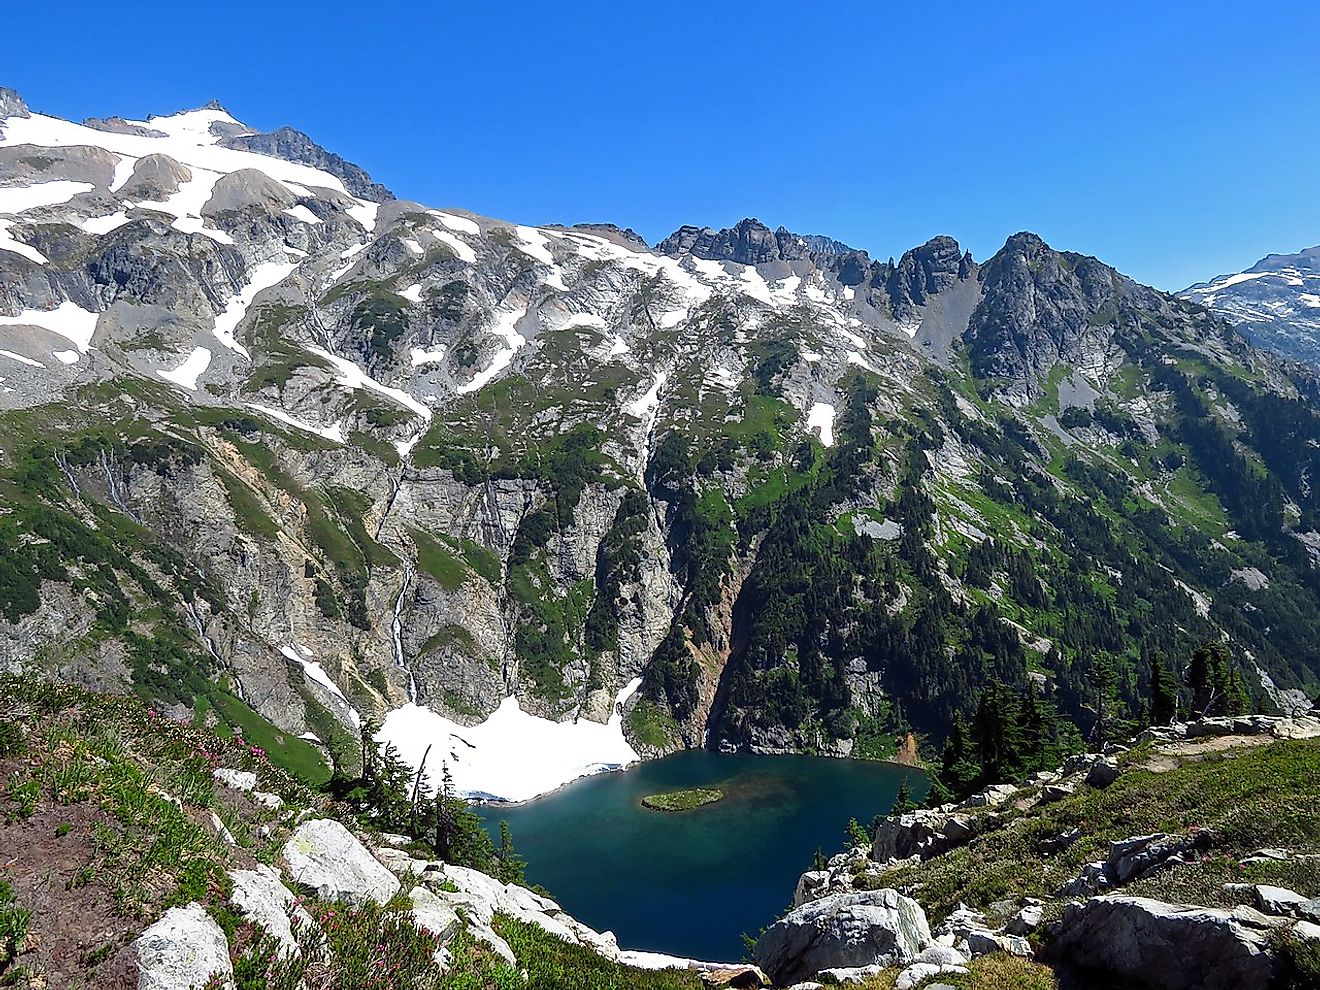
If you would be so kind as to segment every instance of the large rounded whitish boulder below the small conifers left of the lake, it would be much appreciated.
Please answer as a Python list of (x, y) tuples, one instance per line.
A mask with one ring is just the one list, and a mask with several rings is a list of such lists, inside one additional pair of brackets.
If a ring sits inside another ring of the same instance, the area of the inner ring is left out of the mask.
[(325, 900), (384, 904), (399, 892), (399, 878), (334, 818), (298, 825), (284, 845), (289, 879)]

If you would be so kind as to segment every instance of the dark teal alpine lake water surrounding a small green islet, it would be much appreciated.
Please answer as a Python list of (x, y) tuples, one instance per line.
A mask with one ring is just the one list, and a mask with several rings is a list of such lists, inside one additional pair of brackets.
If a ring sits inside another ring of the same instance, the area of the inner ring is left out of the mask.
[[(816, 849), (837, 853), (850, 817), (888, 812), (904, 777), (924, 793), (919, 771), (888, 763), (690, 751), (477, 810), (492, 836), (508, 821), (529, 883), (623, 948), (733, 961), (744, 932), (789, 906)], [(727, 796), (681, 813), (640, 805), (705, 785)]]

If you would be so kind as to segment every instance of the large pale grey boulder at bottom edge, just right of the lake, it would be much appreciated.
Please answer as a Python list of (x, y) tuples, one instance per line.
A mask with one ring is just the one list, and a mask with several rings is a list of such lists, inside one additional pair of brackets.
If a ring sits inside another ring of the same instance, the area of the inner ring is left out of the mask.
[(756, 940), (752, 956), (776, 982), (793, 983), (826, 969), (907, 964), (929, 944), (920, 904), (876, 890), (795, 908)]

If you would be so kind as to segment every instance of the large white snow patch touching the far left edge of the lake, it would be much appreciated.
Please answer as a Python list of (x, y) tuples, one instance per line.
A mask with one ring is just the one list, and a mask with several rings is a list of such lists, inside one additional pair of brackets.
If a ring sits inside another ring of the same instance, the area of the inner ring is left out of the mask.
[(491, 801), (529, 801), (590, 774), (636, 763), (636, 750), (623, 738), (623, 704), (642, 686), (630, 681), (615, 700), (610, 721), (552, 722), (529, 715), (517, 698), (504, 698), (479, 725), (462, 726), (422, 705), (404, 705), (385, 715), (376, 742), (392, 743), (416, 770), (426, 756), (434, 791), (441, 767), (449, 767), (454, 792)]

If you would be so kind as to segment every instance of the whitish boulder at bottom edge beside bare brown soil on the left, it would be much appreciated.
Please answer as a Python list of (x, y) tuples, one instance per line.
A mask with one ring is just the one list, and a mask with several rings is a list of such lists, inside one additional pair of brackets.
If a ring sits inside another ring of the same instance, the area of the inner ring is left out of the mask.
[(198, 903), (170, 908), (133, 942), (137, 990), (201, 990), (213, 978), (234, 986), (230, 944)]

